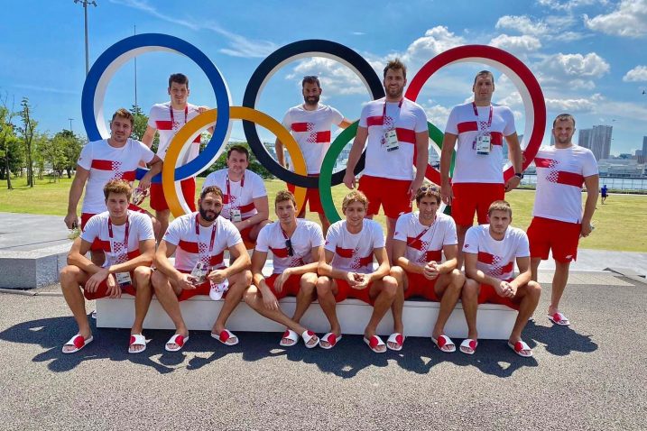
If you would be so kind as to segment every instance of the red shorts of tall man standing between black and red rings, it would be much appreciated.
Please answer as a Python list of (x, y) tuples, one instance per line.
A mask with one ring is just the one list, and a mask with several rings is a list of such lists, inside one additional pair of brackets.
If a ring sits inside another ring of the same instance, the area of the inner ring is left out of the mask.
[(408, 195), (411, 181), (408, 179), (384, 179), (363, 175), (359, 179), (359, 191), (368, 198), (366, 216), (375, 216), (380, 206), (384, 215), (398, 218), (404, 213), (411, 213), (411, 199)]

